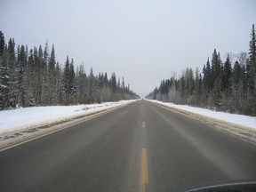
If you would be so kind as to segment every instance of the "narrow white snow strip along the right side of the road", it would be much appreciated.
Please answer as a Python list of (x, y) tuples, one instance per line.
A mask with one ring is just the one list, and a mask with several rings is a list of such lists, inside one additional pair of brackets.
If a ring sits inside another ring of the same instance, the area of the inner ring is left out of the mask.
[(185, 111), (192, 112), (195, 114), (219, 119), (221, 121), (225, 121), (228, 123), (240, 124), (242, 126), (256, 129), (256, 117), (255, 116), (243, 116), (243, 115), (237, 115), (237, 114), (229, 114), (229, 113), (220, 112), (220, 111), (212, 111), (212, 110), (206, 109), (206, 108), (194, 108), (194, 107), (190, 107), (188, 105), (175, 105), (173, 103), (162, 102), (162, 101), (158, 101), (158, 100), (149, 100), (149, 101), (155, 102), (158, 104), (162, 104), (167, 107), (179, 108), (181, 110), (185, 110)]

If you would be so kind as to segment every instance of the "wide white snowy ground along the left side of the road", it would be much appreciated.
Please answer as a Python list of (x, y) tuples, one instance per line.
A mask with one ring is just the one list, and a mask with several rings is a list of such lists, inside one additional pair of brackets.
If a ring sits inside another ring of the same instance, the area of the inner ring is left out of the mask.
[(52, 106), (19, 108), (0, 111), (0, 133), (33, 127), (39, 124), (51, 124), (63, 118), (89, 115), (108, 108), (124, 105), (134, 100), (104, 102), (91, 105)]

